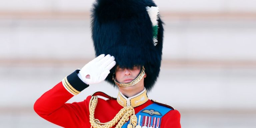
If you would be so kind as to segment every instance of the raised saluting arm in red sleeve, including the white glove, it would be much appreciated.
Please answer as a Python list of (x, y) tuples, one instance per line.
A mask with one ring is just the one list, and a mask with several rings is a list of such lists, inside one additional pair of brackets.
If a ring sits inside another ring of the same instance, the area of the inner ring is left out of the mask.
[(89, 84), (103, 81), (116, 64), (114, 57), (100, 55), (81, 70), (76, 70), (62, 82), (45, 92), (34, 104), (35, 112), (42, 118), (65, 128), (82, 127), (89, 120), (90, 96), (83, 102), (66, 103)]

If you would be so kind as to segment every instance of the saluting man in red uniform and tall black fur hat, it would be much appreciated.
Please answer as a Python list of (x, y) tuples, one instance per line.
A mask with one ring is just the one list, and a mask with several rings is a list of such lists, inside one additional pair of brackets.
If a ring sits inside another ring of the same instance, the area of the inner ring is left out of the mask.
[[(65, 128), (180, 128), (177, 110), (147, 96), (162, 59), (163, 23), (155, 3), (97, 0), (91, 23), (97, 58), (45, 92), (34, 104), (36, 113)], [(117, 98), (95, 92), (66, 103), (104, 79), (118, 87)]]

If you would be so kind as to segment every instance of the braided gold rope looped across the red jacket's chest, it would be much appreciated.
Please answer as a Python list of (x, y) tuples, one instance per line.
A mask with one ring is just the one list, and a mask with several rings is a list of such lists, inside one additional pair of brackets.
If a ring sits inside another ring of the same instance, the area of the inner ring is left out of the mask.
[(122, 108), (116, 116), (109, 122), (106, 123), (101, 123), (98, 119), (94, 118), (94, 112), (96, 105), (98, 103), (98, 97), (97, 96), (92, 96), (90, 103), (89, 103), (89, 112), (90, 112), (90, 123), (91, 123), (91, 128), (111, 128), (113, 127), (116, 123), (115, 128), (121, 128), (126, 121), (129, 120), (129, 116), (131, 116), (130, 124), (128, 124), (127, 128), (135, 128), (137, 124), (137, 117), (135, 115), (135, 111), (133, 107), (128, 106)]

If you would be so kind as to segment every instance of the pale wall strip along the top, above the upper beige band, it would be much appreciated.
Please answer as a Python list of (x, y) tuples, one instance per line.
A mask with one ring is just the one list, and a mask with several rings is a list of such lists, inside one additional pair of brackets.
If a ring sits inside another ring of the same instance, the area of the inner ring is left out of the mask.
[[(88, 11), (94, 0), (1, 0), (0, 10)], [(254, 0), (155, 0), (164, 11), (256, 12)]]

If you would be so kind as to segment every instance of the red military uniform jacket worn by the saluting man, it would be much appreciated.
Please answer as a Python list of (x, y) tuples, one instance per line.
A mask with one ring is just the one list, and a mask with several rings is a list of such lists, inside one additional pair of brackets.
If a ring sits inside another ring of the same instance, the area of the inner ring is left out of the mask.
[[(76, 70), (67, 79), (69, 83), (77, 90), (81, 91), (89, 85), (85, 85), (77, 76)], [(79, 81), (79, 82), (78, 82)], [(75, 84), (84, 88), (76, 87)], [(82, 85), (83, 84), (83, 85)], [(101, 93), (103, 94), (103, 93)], [(88, 96), (82, 102), (66, 103), (72, 95), (63, 86), (63, 82), (58, 83), (52, 89), (45, 92), (34, 104), (35, 112), (42, 118), (65, 128), (90, 128), (89, 122), (89, 101), (91, 96)], [(135, 114), (152, 104), (153, 101), (148, 100), (144, 104), (134, 107)], [(95, 119), (100, 122), (108, 122), (122, 109), (116, 98), (104, 100), (98, 98), (98, 104), (95, 109)], [(170, 110), (161, 119), (160, 128), (180, 128), (180, 113), (177, 110)]]

